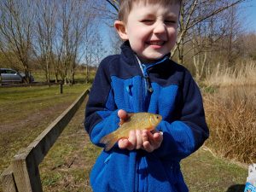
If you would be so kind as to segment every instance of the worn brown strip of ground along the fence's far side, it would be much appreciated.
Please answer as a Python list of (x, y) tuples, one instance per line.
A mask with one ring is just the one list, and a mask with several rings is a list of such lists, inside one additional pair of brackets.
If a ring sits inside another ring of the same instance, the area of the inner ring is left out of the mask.
[(27, 115), (26, 119), (11, 124), (0, 124), (0, 174), (9, 166), (12, 157), (20, 148), (26, 148), (51, 121), (56, 119), (70, 105), (60, 103), (55, 107), (45, 108), (38, 113)]

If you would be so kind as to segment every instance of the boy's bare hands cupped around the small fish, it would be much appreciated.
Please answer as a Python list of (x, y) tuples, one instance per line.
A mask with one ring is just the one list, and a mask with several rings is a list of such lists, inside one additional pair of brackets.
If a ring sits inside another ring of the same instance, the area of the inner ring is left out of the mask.
[[(120, 122), (127, 119), (128, 114), (120, 109), (118, 112)], [(127, 148), (128, 150), (142, 148), (148, 152), (153, 152), (154, 149), (159, 148), (163, 141), (163, 134), (159, 131), (150, 132), (147, 130), (130, 131), (129, 138), (120, 139), (119, 148)]]

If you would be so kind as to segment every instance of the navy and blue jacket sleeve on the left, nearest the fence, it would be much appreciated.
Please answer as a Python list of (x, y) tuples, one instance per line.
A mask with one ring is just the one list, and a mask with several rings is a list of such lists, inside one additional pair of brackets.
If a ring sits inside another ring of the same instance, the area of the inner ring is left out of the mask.
[(103, 147), (99, 143), (101, 138), (116, 130), (119, 124), (109, 74), (110, 62), (111, 57), (107, 57), (98, 67), (85, 109), (84, 128), (91, 142), (100, 147)]

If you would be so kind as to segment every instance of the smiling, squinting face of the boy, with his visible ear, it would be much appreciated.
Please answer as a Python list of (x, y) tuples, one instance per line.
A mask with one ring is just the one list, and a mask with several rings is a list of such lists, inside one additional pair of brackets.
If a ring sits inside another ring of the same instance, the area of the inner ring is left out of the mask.
[(119, 36), (129, 40), (131, 49), (143, 62), (160, 59), (173, 48), (177, 38), (179, 4), (133, 4), (126, 23), (116, 21)]

